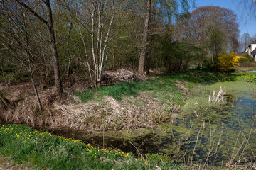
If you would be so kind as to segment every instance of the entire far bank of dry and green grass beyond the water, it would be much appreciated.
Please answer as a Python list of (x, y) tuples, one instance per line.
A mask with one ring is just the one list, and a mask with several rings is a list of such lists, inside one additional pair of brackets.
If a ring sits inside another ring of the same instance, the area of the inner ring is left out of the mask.
[(5, 123), (86, 132), (152, 128), (172, 121), (172, 115), (181, 112), (190, 89), (202, 81), (256, 82), (256, 77), (255, 72), (220, 74), (193, 70), (95, 89), (66, 89), (63, 98), (56, 98), (54, 89), (46, 89), (39, 92), (42, 113), (33, 89), (29, 89), (31, 84), (18, 84), (1, 87), (9, 103), (1, 103), (4, 114), (0, 118)]

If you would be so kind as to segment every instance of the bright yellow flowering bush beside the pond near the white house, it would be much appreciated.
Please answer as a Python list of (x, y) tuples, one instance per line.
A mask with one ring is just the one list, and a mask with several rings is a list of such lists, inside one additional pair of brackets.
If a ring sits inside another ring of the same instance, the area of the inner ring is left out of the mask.
[(245, 57), (235, 55), (234, 52), (230, 52), (229, 54), (220, 53), (218, 57), (218, 69), (220, 72), (229, 72), (230, 68), (239, 66), (239, 60), (241, 58)]

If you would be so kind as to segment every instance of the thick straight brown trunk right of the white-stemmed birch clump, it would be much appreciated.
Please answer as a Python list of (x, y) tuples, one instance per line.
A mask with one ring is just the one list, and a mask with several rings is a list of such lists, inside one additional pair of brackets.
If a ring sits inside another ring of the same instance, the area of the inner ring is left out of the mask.
[(139, 74), (144, 74), (149, 18), (150, 18), (150, 7), (151, 7), (151, 0), (146, 0), (146, 13), (145, 13), (145, 22), (144, 22), (144, 32), (143, 32), (143, 38), (142, 38), (142, 50), (139, 55), (139, 69), (138, 69)]

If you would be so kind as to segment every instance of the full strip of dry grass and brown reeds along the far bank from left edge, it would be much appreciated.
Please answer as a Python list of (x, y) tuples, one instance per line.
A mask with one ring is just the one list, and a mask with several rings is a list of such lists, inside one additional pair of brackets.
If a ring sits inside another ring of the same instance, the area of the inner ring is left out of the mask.
[[(7, 123), (25, 123), (34, 127), (65, 127), (87, 132), (133, 130), (151, 128), (158, 123), (171, 120), (171, 114), (180, 110), (180, 106), (170, 106), (169, 103), (159, 101), (146, 92), (136, 97), (124, 98), (122, 101), (104, 96), (102, 101), (75, 104), (65, 99), (77, 99), (73, 94), (57, 98), (55, 89), (52, 88), (40, 93), (43, 111), (39, 114), (36, 96), (32, 94), (33, 91), (28, 94), (16, 89), (12, 96), (9, 96), (13, 101), (18, 101), (16, 108), (5, 111), (5, 114), (1, 115), (1, 120)], [(164, 111), (163, 108), (169, 109)]]

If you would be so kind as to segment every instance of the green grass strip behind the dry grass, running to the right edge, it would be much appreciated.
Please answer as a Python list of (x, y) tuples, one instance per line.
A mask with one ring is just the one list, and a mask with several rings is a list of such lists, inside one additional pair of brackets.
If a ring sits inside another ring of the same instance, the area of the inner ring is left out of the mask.
[(80, 98), (82, 103), (86, 103), (87, 101), (97, 101), (102, 96), (112, 96), (117, 100), (122, 100), (124, 97), (137, 96), (142, 91), (151, 91), (153, 95), (155, 91), (160, 94), (170, 94), (172, 92), (170, 95), (176, 96), (176, 103), (183, 104), (184, 96), (182, 96), (181, 91), (178, 91), (176, 81), (186, 82), (188, 89), (191, 89), (193, 85), (202, 81), (242, 81), (243, 78), (256, 82), (253, 73), (223, 74), (192, 70), (182, 74), (165, 74), (159, 78), (148, 79), (144, 82), (114, 84), (113, 86), (100, 86), (82, 92), (75, 91), (74, 94)]

